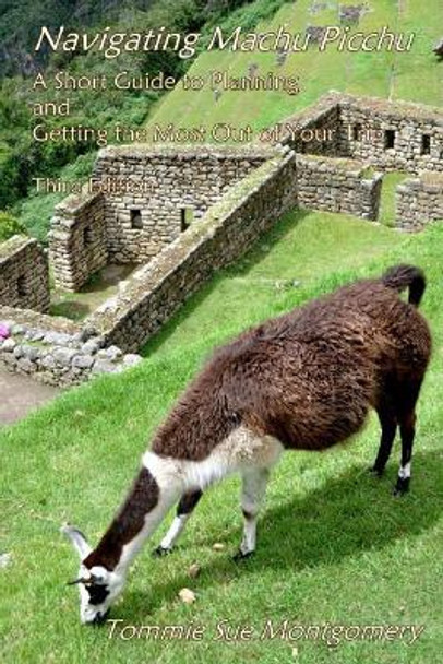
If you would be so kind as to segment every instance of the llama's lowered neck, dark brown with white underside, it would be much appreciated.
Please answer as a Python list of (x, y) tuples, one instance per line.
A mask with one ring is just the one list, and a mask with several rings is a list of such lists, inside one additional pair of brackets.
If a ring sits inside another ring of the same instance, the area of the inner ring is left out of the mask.
[(177, 499), (178, 490), (165, 490), (154, 474), (143, 467), (123, 506), (84, 560), (89, 569), (96, 565), (124, 573)]

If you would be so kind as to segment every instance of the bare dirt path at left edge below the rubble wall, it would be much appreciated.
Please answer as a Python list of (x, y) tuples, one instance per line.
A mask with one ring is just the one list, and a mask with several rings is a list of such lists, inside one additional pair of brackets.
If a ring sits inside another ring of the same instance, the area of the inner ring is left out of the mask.
[(61, 390), (0, 369), (0, 427), (22, 419)]

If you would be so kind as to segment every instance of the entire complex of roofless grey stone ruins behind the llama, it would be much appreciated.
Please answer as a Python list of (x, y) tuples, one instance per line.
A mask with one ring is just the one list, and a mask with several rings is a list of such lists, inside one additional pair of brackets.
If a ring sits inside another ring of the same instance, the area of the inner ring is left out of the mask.
[[(273, 145), (242, 149), (107, 147), (96, 191), (56, 208), (49, 234), (55, 283), (76, 290), (113, 262), (139, 268), (82, 323), (44, 312), (48, 265), (36, 240), (0, 246), (0, 364), (53, 384), (121, 371), (218, 269), (241, 257), (294, 208), (376, 221), (383, 174), (396, 225), (443, 218), (443, 117), (421, 105), (331, 93), (279, 123)], [(41, 313), (43, 312), (43, 313)]]

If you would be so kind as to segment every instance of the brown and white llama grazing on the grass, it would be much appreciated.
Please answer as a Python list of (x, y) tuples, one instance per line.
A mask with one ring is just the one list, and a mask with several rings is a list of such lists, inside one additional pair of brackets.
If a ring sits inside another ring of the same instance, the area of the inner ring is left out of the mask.
[[(219, 348), (158, 429), (125, 502), (93, 549), (62, 531), (76, 549), (82, 622), (103, 622), (128, 569), (169, 509), (177, 515), (157, 555), (172, 550), (214, 482), (242, 477), (243, 535), (237, 559), (255, 549), (256, 519), (271, 470), (284, 450), (324, 450), (363, 425), (370, 407), (381, 424), (371, 469), (381, 475), (397, 427), (397, 495), (409, 486), (415, 406), (431, 353), (417, 307), (418, 268), (397, 265), (248, 330)], [(409, 301), (399, 293), (409, 288)]]

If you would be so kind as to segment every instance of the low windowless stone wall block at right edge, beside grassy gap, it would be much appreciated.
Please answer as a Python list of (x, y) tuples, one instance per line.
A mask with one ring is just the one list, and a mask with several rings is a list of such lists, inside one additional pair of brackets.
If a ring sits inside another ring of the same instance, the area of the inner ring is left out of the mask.
[(443, 174), (423, 174), (396, 190), (396, 226), (420, 230), (429, 221), (443, 221)]

